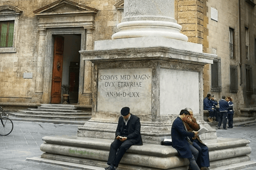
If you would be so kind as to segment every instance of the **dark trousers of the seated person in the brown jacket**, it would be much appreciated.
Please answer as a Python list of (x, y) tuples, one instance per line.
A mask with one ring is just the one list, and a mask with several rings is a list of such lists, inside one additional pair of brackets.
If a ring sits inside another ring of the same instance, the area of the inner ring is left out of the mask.
[(203, 143), (199, 142), (197, 139), (194, 140), (193, 146), (198, 150), (198, 158), (196, 160), (199, 168), (201, 167), (209, 167), (210, 159), (209, 159), (209, 149), (207, 146), (203, 145)]

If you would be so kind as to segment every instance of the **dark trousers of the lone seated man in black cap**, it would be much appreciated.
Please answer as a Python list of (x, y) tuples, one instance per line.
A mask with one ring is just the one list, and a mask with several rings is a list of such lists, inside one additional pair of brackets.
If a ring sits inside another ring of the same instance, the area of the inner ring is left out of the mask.
[[(118, 167), (119, 162), (124, 156), (127, 149), (129, 149), (133, 144), (131, 140), (125, 140), (124, 142), (115, 139), (110, 145), (110, 151), (108, 156), (108, 165), (113, 164)], [(118, 151), (117, 151), (118, 149)]]

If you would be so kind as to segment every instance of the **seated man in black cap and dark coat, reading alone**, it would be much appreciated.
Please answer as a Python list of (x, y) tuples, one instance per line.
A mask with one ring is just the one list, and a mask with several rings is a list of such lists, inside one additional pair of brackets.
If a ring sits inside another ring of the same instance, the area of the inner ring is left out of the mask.
[[(116, 137), (111, 143), (108, 165), (106, 170), (115, 170), (118, 167), (126, 150), (132, 145), (142, 145), (140, 135), (140, 118), (130, 113), (129, 107), (121, 109), (121, 115), (116, 128)], [(117, 151), (117, 149), (119, 149)]]

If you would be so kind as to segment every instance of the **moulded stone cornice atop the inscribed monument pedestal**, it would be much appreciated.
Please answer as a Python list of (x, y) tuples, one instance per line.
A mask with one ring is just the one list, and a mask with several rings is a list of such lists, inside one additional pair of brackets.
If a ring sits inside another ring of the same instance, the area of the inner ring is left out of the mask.
[[(217, 55), (207, 53), (197, 53), (187, 50), (167, 48), (167, 47), (148, 47), (148, 48), (122, 48), (122, 49), (110, 49), (110, 50), (86, 50), (79, 51), (84, 57), (83, 60), (90, 60), (91, 62), (104, 62), (105, 60), (165, 60), (165, 61), (183, 61), (184, 63), (201, 63), (212, 64), (213, 59)], [(127, 54), (131, 55), (127, 55)], [(102, 58), (104, 54), (104, 58)], [(118, 55), (117, 55), (118, 54)], [(126, 55), (122, 55), (126, 54)], [(101, 56), (101, 57), (98, 57)], [(129, 56), (129, 57), (127, 57)], [(86, 59), (85, 59), (86, 58)]]

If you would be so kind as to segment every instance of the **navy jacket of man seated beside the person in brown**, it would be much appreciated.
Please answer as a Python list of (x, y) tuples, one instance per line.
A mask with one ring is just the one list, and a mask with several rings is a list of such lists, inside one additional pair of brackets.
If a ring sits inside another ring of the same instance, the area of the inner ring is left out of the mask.
[(195, 137), (195, 133), (188, 132), (185, 129), (185, 125), (180, 117), (177, 117), (172, 124), (171, 136), (172, 146), (178, 151), (179, 156), (181, 158), (192, 158), (193, 155), (189, 147), (191, 144), (186, 138)]

